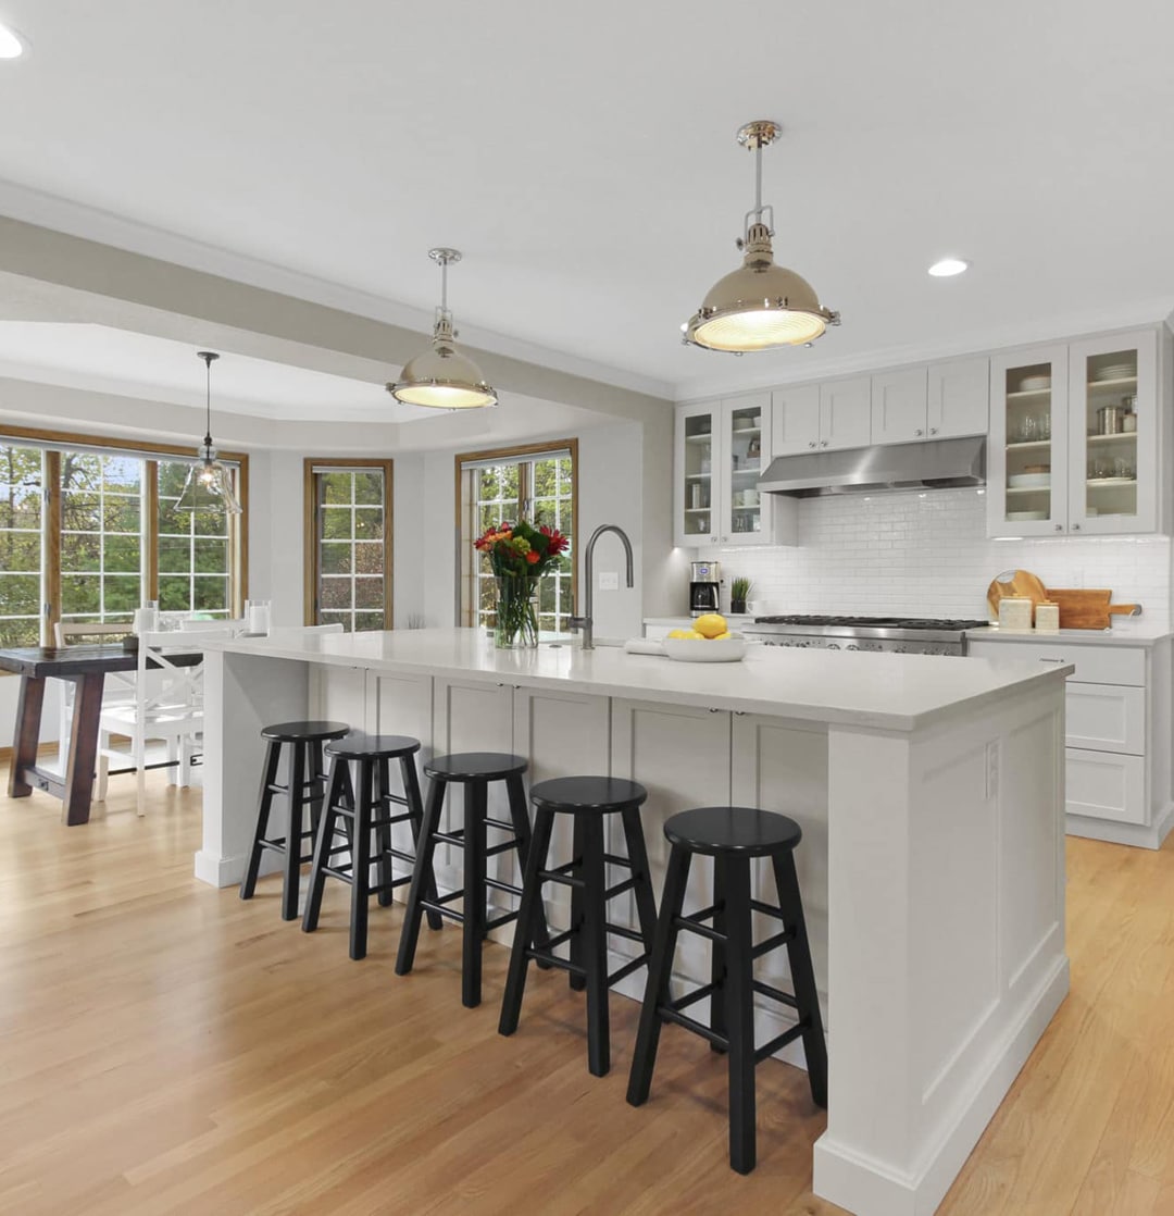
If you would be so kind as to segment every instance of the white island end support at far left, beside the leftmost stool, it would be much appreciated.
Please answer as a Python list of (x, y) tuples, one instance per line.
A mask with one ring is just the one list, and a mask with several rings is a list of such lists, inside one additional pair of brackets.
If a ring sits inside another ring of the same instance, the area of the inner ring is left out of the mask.
[[(196, 877), (211, 886), (241, 882), (253, 843), (264, 744), (261, 728), (304, 717), (309, 666), (209, 649), (204, 654), (203, 845)], [(281, 865), (263, 857), (263, 873)]]

